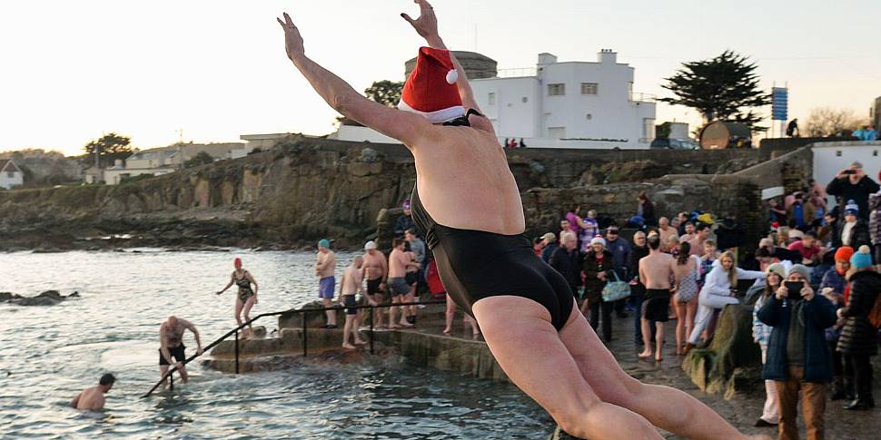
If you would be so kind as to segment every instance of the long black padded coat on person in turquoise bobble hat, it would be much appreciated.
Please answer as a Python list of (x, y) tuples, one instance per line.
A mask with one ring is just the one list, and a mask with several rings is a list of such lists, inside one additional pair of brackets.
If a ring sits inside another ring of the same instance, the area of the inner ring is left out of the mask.
[(875, 298), (881, 293), (881, 275), (871, 271), (856, 272), (850, 277), (850, 298), (841, 308), (845, 325), (841, 328), (837, 351), (844, 355), (874, 356), (878, 352), (877, 328), (868, 316)]

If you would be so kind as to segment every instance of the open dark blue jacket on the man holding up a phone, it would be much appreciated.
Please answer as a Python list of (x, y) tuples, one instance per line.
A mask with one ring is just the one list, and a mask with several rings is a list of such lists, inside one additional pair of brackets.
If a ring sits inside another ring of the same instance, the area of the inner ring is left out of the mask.
[[(787, 335), (789, 312), (786, 301), (776, 296), (767, 298), (758, 310), (758, 319), (773, 327), (767, 344), (767, 361), (762, 371), (766, 380), (787, 380)], [(815, 294), (801, 308), (805, 319), (805, 382), (832, 381), (832, 354), (826, 342), (824, 330), (836, 322), (835, 306), (822, 295)]]

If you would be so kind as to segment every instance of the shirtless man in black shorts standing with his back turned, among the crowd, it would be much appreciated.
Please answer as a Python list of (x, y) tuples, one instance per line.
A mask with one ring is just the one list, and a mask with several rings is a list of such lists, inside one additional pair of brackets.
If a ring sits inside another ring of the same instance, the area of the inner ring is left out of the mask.
[(670, 313), (670, 278), (673, 277), (676, 259), (661, 252), (658, 232), (648, 234), (647, 241), (648, 257), (639, 260), (639, 279), (646, 286), (646, 296), (640, 310), (644, 348), (639, 357), (651, 357), (651, 328), (648, 328), (648, 324), (655, 321), (655, 360), (660, 361), (663, 359), (664, 323), (668, 321)]

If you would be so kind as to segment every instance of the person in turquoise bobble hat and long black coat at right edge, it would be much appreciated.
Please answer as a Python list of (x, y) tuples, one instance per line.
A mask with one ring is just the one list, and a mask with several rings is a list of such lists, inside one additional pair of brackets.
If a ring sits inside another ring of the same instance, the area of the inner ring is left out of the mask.
[(869, 321), (868, 313), (875, 306), (881, 292), (881, 275), (872, 266), (871, 250), (861, 246), (850, 258), (850, 296), (847, 304), (838, 309), (838, 318), (844, 318), (837, 350), (844, 356), (845, 378), (853, 380), (856, 399), (845, 409), (860, 410), (875, 407), (872, 396), (872, 363), (869, 360), (878, 352), (877, 331)]

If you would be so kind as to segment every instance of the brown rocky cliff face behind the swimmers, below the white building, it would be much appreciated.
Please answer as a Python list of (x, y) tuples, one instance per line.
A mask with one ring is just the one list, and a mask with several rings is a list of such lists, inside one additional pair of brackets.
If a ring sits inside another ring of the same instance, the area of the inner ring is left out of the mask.
[[(510, 151), (509, 161), (536, 229), (554, 224), (571, 201), (623, 217), (638, 191), (653, 188), (635, 182), (737, 171), (768, 156), (525, 149)], [(0, 249), (284, 248), (320, 237), (358, 246), (375, 234), (382, 209), (409, 197), (414, 181), (412, 157), (400, 145), (292, 137), (269, 152), (117, 186), (0, 191)]]

